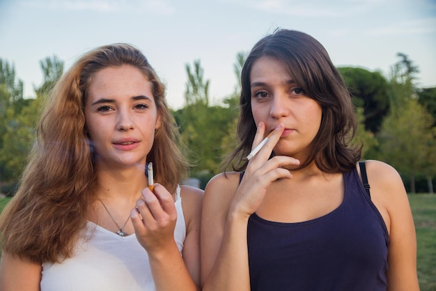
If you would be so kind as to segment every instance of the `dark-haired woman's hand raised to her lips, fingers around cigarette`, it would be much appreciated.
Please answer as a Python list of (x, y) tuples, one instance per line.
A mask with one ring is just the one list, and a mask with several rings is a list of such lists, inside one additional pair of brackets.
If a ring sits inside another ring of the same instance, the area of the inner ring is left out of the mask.
[[(250, 159), (244, 177), (240, 183), (235, 199), (231, 205), (231, 214), (240, 214), (248, 218), (253, 214), (265, 196), (267, 187), (277, 179), (290, 179), (292, 174), (283, 168), (285, 165), (299, 165), (299, 161), (290, 156), (274, 156), (270, 158), (272, 150), (283, 133), (284, 126), (279, 124), (266, 144), (253, 158)], [(254, 149), (265, 136), (265, 124), (260, 123), (254, 137)]]

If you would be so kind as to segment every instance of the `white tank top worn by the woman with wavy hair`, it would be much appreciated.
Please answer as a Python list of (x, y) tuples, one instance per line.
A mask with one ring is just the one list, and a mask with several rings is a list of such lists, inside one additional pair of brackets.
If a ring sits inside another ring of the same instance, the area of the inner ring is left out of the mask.
[[(181, 255), (186, 225), (180, 187), (176, 191), (175, 206), (174, 239)], [(147, 252), (135, 235), (120, 237), (91, 221), (82, 232), (72, 258), (61, 263), (42, 264), (40, 287), (41, 291), (156, 290)]]

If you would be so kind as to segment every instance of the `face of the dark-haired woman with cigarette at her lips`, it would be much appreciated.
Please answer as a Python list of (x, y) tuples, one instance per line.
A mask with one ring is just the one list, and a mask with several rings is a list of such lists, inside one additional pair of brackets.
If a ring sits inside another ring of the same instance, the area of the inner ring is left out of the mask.
[(274, 57), (260, 57), (254, 62), (250, 84), (251, 112), (256, 124), (265, 123), (265, 135), (279, 123), (285, 126), (274, 154), (304, 158), (320, 128), (321, 106), (305, 95), (286, 64)]

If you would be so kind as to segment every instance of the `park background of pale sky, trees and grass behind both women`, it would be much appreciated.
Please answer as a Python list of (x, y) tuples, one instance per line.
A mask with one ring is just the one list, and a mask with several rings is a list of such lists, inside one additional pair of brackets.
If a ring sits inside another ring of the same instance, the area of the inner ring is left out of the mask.
[(400, 172), (422, 291), (436, 290), (436, 1), (0, 0), (0, 207), (63, 71), (98, 45), (132, 43), (166, 82), (204, 188), (234, 148), (240, 69), (256, 40), (297, 29), (325, 45), (352, 94), (364, 159)]

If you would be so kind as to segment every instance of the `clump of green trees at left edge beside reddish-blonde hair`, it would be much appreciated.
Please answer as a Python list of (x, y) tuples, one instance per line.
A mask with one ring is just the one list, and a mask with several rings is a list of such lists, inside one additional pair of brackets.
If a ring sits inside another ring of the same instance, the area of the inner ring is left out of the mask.
[(0, 60), (0, 179), (17, 181), (36, 135), (42, 99), (63, 70), (63, 62), (52, 57), (40, 61), (44, 82), (35, 88), (36, 98), (23, 98), (23, 82), (15, 69)]

